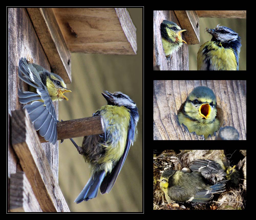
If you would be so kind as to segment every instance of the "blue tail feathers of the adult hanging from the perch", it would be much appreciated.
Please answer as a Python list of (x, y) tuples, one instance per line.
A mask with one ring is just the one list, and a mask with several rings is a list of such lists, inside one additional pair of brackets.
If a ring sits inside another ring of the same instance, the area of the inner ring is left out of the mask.
[(89, 199), (93, 199), (97, 196), (99, 187), (106, 175), (106, 172), (102, 170), (100, 173), (95, 172), (80, 192), (78, 197), (74, 202), (80, 203), (82, 201), (87, 201)]

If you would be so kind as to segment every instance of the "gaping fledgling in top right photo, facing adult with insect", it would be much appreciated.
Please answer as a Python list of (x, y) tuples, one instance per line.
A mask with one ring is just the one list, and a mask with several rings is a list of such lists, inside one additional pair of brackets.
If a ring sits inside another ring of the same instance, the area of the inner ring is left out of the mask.
[(160, 25), (162, 43), (166, 57), (170, 57), (174, 51), (178, 51), (183, 43), (187, 43), (182, 40), (180, 33), (186, 30), (182, 30), (176, 23), (172, 21), (163, 20)]

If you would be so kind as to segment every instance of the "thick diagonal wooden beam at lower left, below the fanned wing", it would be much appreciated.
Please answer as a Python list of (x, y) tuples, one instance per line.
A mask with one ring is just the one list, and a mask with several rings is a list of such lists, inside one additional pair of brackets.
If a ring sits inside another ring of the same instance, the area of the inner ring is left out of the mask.
[(26, 109), (12, 112), (12, 146), (43, 212), (69, 212)]

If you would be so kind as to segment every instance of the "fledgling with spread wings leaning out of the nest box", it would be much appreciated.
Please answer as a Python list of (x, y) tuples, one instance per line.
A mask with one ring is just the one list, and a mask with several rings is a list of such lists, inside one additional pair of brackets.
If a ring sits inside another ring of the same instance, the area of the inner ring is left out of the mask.
[(33, 92), (22, 92), (18, 90), (20, 103), (32, 102), (25, 105), (31, 121), (39, 134), (46, 141), (55, 144), (57, 141), (57, 117), (52, 101), (68, 98), (63, 95), (71, 92), (66, 88), (63, 79), (43, 67), (29, 63), (27, 59), (19, 60), (18, 76), (31, 86)]

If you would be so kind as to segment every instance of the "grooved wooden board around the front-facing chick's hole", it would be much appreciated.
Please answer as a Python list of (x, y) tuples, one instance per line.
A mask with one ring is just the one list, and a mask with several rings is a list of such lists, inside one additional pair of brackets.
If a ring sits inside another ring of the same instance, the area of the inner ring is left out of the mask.
[[(177, 112), (198, 86), (212, 89), (223, 111), (223, 127), (232, 126), (246, 140), (246, 80), (154, 80), (154, 140), (203, 140), (180, 126)], [(218, 135), (218, 132), (217, 132)], [(207, 140), (215, 140), (216, 137)]]

